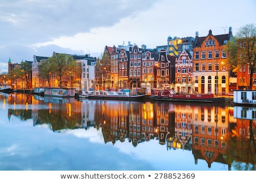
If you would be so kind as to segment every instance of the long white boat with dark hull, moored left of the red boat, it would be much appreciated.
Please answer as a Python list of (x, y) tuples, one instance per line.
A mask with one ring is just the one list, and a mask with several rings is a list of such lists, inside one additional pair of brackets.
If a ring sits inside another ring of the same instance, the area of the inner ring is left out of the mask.
[(80, 98), (89, 100), (122, 100), (139, 101), (143, 100), (144, 94), (132, 94), (130, 89), (111, 89), (111, 90), (88, 90), (79, 94)]

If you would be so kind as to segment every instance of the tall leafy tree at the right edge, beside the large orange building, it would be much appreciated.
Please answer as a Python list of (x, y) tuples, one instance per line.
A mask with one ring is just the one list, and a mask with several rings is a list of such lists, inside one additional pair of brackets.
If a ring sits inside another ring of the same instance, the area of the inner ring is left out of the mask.
[(233, 72), (243, 65), (249, 66), (250, 85), (253, 87), (253, 73), (256, 71), (256, 27), (254, 24), (246, 24), (238, 29), (236, 36), (232, 41), (226, 44), (226, 52), (229, 55), (229, 61)]

